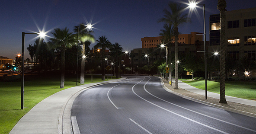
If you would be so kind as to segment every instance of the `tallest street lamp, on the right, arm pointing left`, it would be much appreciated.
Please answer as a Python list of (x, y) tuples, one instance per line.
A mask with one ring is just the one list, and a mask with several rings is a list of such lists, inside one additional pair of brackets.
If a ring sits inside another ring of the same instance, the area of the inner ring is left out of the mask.
[[(205, 48), (205, 40), (206, 40), (206, 29), (205, 29), (205, 4), (196, 4), (194, 2), (189, 3), (189, 8), (195, 8), (195, 6), (203, 6), (203, 12), (204, 12), (204, 33), (202, 35), (204, 35), (204, 48)], [(205, 99), (207, 99), (207, 63), (206, 63), (206, 50), (204, 51), (200, 51), (200, 52), (204, 52), (205, 53)]]

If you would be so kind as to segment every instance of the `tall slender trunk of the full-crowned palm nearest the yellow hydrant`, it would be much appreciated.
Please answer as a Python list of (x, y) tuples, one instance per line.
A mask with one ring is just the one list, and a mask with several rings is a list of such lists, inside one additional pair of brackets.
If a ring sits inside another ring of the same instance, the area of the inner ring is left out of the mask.
[(179, 38), (179, 31), (178, 27), (174, 28), (174, 35), (175, 35), (175, 83), (174, 89), (179, 89), (178, 87), (178, 38)]

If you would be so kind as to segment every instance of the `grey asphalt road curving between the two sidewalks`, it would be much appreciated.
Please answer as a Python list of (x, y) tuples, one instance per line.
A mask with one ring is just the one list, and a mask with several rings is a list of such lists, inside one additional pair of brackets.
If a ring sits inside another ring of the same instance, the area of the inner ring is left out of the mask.
[(167, 92), (158, 77), (128, 77), (85, 90), (71, 116), (81, 134), (256, 134), (256, 118)]

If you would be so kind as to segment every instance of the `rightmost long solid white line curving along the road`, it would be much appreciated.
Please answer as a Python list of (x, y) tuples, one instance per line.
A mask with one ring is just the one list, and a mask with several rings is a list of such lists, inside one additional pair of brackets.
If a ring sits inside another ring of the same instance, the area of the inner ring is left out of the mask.
[[(147, 84), (147, 83), (146, 83), (146, 84)], [(146, 84), (145, 84), (145, 85), (146, 85)], [(150, 94), (151, 96), (154, 96), (153, 94), (151, 94), (151, 93), (149, 93), (149, 92), (147, 91), (145, 85), (143, 86), (144, 90), (145, 90), (148, 94)], [(239, 127), (239, 128), (243, 128), (243, 129), (246, 129), (246, 130), (249, 130), (249, 131), (256, 132), (256, 130), (253, 130), (253, 129), (250, 129), (250, 128), (245, 128), (245, 127), (240, 126), (240, 125), (237, 125), (237, 124), (233, 124), (233, 123), (230, 123), (230, 122), (227, 122), (227, 121), (218, 119), (218, 118), (211, 117), (211, 116), (209, 116), (209, 115), (202, 114), (202, 113), (200, 113), (200, 112), (193, 111), (193, 110), (188, 109), (188, 108), (184, 108), (184, 107), (182, 107), (182, 106), (180, 106), (180, 105), (176, 105), (176, 104), (174, 104), (174, 103), (172, 103), (172, 102), (168, 102), (168, 101), (166, 101), (166, 100), (164, 100), (164, 99), (161, 99), (161, 98), (159, 98), (159, 97), (157, 97), (157, 96), (154, 96), (154, 97), (156, 97), (157, 99), (160, 99), (160, 100), (162, 100), (162, 101), (164, 101), (164, 102), (167, 102), (167, 103), (169, 103), (169, 104), (175, 105), (175, 106), (177, 106), (177, 107), (180, 107), (180, 108), (186, 109), (186, 110), (188, 110), (188, 111), (197, 113), (197, 114), (199, 114), (199, 115), (203, 115), (203, 116), (206, 116), (206, 117), (208, 117), (208, 118), (212, 118), (212, 119), (215, 119), (215, 120), (218, 120), (218, 121), (222, 121), (222, 122), (224, 122), (224, 123), (231, 124), (231, 125), (234, 125), (234, 126)]]

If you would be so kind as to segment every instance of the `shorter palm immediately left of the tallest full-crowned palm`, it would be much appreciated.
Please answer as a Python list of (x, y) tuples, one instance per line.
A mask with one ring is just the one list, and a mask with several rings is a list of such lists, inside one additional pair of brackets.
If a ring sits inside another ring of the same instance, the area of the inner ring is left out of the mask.
[[(171, 50), (171, 45), (172, 45), (172, 37), (173, 37), (173, 26), (172, 24), (169, 23), (168, 24), (164, 24), (163, 26), (164, 29), (161, 29), (161, 33), (159, 33), (160, 36), (162, 36), (162, 42), (166, 43), (166, 58), (169, 59), (169, 68), (171, 67), (171, 61), (172, 61), (172, 57), (169, 56), (169, 50)], [(170, 54), (171, 55), (171, 54)], [(167, 61), (166, 59), (166, 61)], [(166, 63), (167, 66), (167, 63)], [(169, 70), (170, 72), (170, 70)], [(167, 76), (167, 73), (166, 73)], [(172, 77), (171, 73), (169, 73), (169, 78)], [(168, 80), (168, 77), (166, 77), (166, 80)]]

